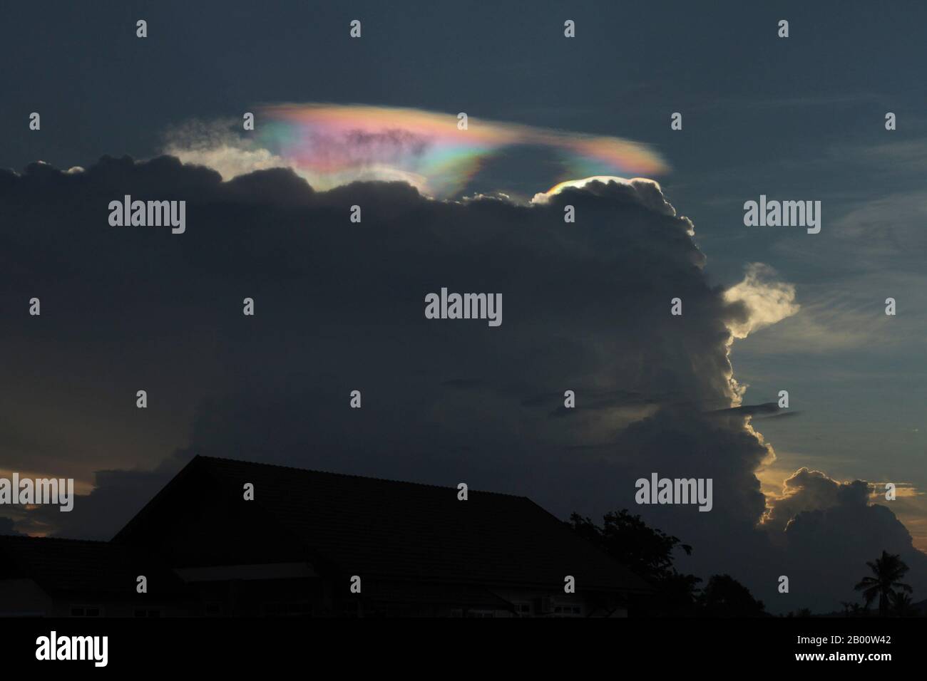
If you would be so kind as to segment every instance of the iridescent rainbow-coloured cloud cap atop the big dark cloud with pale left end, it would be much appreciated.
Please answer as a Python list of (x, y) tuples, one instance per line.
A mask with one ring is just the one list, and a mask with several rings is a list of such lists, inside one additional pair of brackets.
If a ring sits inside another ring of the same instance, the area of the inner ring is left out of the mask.
[[(546, 147), (561, 160), (551, 183), (593, 174), (654, 177), (667, 165), (647, 145), (412, 108), (283, 104), (257, 113), (243, 138), (174, 139), (166, 149), (208, 165), (227, 180), (249, 170), (287, 167), (327, 189), (355, 180), (401, 180), (427, 195), (460, 193), (485, 161), (514, 145)], [(253, 136), (248, 136), (249, 134)]]

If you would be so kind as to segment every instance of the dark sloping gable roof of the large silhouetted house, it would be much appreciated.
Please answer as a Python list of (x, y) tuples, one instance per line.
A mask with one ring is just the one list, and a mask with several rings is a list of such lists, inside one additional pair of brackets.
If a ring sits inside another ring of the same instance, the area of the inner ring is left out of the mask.
[[(212, 457), (192, 460), (178, 473), (177, 485), (184, 478), (214, 481), (214, 498), (224, 503), (253, 504), (249, 508), (276, 524), (275, 531), (283, 528), (311, 555), (345, 574), (546, 589), (563, 588), (565, 576), (573, 575), (580, 591), (650, 588), (526, 497), (470, 490), (460, 501), (455, 487)], [(242, 500), (245, 483), (254, 485), (254, 501)], [(159, 514), (168, 512), (159, 509), (166, 492), (116, 541), (131, 537), (144, 543)], [(196, 494), (201, 497), (204, 490)]]

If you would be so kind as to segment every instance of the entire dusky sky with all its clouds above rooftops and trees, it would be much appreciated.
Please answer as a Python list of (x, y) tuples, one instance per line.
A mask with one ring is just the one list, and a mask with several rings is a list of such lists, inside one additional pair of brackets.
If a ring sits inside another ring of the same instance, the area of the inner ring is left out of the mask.
[[(822, 554), (871, 560), (888, 543), (923, 598), (927, 556), (911, 547), (927, 550), (927, 9), (3, 14), (0, 472), (72, 476), (89, 495), (67, 523), (39, 510), (7, 514), (8, 529), (107, 538), (198, 452), (466, 476), (561, 517), (627, 506), (692, 543), (692, 570), (730, 572), (778, 610), (853, 599), (820, 578), (843, 569)], [(323, 138), (337, 140), (324, 158), (307, 142)], [(535, 198), (590, 175), (659, 184)], [(110, 227), (108, 201), (130, 189), (186, 198), (187, 233)], [(820, 233), (744, 226), (760, 195), (820, 201)], [(504, 291), (502, 326), (426, 323), (422, 297), (442, 285)], [(669, 328), (676, 295), (686, 324)], [(25, 314), (32, 296), (40, 320)], [(242, 323), (244, 296), (257, 324)], [(361, 385), (362, 421), (341, 409)], [(749, 409), (781, 390), (788, 418)], [(714, 475), (716, 509), (634, 506), (634, 479), (663, 474), (656, 463)], [(894, 501), (873, 491), (886, 482)], [(782, 599), (779, 574), (805, 586)]]

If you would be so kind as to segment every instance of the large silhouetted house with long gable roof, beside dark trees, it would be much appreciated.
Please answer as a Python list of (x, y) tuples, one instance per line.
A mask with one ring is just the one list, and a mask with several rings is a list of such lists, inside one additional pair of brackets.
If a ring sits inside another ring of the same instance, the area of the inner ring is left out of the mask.
[(623, 616), (651, 590), (528, 498), (458, 495), (196, 457), (102, 546), (148, 557), (129, 572), (159, 575), (146, 597), (165, 614)]

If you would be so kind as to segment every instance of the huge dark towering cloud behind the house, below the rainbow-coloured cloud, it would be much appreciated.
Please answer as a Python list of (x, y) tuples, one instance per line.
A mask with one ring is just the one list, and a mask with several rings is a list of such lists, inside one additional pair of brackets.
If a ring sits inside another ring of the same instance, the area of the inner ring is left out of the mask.
[[(127, 194), (185, 199), (186, 233), (110, 227), (108, 202)], [(756, 529), (755, 472), (771, 452), (749, 422), (765, 406), (731, 409), (730, 324), (750, 326), (751, 309), (708, 283), (692, 223), (653, 183), (591, 183), (533, 205), (438, 202), (402, 183), (315, 192), (289, 170), (222, 183), (174, 158), (103, 158), (77, 173), (0, 173), (0, 211), (0, 378), (19, 396), (9, 418), (31, 434), (8, 467), (108, 471), (72, 513), (36, 512), (62, 534), (111, 535), (199, 453), (465, 481), (563, 516), (629, 508), (694, 546), (686, 569), (734, 574), (764, 599), (788, 563)], [(425, 319), (442, 286), (501, 293), (502, 325)], [(32, 296), (40, 318), (26, 312)], [(135, 409), (141, 388), (147, 410)], [(355, 389), (361, 410), (349, 409)], [(86, 456), (56, 452), (62, 441)], [(634, 482), (651, 473), (713, 478), (713, 510), (635, 505)], [(777, 506), (775, 522), (796, 513), (796, 537), (814, 512), (830, 513), (815, 527), (843, 522), (827, 504)], [(874, 508), (856, 511), (891, 515)], [(877, 555), (870, 538), (860, 550)]]

